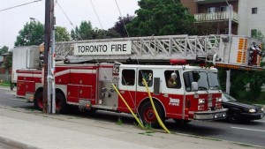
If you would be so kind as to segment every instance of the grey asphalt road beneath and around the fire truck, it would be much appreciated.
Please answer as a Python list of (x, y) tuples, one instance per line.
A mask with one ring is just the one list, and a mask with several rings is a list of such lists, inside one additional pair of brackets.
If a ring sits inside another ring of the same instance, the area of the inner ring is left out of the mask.
[[(15, 97), (15, 91), (0, 86), (0, 104), (14, 108), (27, 108), (34, 110), (33, 103), (27, 103), (23, 99)], [(117, 122), (121, 119), (122, 123), (134, 124), (133, 117), (125, 114), (117, 114), (106, 111), (97, 111), (93, 114), (72, 111), (71, 114), (93, 118), (102, 121)], [(166, 127), (173, 132), (192, 134), (212, 139), (224, 139), (250, 145), (260, 145), (265, 147), (265, 118), (250, 123), (227, 123), (224, 121), (201, 122), (192, 121), (187, 125), (178, 125), (172, 120), (166, 121)]]

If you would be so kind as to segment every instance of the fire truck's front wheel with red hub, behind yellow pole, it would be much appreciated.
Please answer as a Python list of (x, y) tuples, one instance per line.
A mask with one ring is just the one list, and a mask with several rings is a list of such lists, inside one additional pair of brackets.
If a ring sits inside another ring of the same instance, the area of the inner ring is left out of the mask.
[[(162, 122), (164, 122), (165, 116), (164, 116), (163, 108), (156, 102), (155, 102), (155, 108), (156, 108), (158, 115), (160, 116), (160, 119), (162, 120)], [(140, 108), (140, 119), (142, 120), (142, 122), (145, 125), (150, 124), (153, 128), (160, 127), (160, 125), (159, 125), (159, 123), (155, 117), (155, 110), (152, 108), (152, 105), (149, 101), (145, 102), (141, 106), (141, 108)]]

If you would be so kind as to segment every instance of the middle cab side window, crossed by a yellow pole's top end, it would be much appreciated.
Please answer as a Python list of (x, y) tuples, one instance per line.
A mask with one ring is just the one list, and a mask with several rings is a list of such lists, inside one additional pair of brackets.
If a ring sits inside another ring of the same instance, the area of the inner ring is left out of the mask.
[(140, 70), (139, 71), (138, 85), (145, 86), (142, 78), (145, 78), (148, 84), (148, 87), (153, 86), (153, 71), (152, 70)]

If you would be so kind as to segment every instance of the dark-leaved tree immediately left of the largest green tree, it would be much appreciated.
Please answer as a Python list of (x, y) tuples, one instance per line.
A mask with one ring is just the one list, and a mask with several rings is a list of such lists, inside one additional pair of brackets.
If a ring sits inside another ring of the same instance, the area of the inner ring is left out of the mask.
[(118, 21), (110, 29), (115, 31), (115, 32), (117, 32), (120, 37), (128, 37), (128, 34), (127, 34), (126, 30), (125, 30), (125, 26), (127, 24), (129, 24), (130, 22), (132, 22), (133, 18), (134, 17), (130, 16), (129, 14), (127, 14), (127, 16), (123, 17), (123, 18), (119, 17)]

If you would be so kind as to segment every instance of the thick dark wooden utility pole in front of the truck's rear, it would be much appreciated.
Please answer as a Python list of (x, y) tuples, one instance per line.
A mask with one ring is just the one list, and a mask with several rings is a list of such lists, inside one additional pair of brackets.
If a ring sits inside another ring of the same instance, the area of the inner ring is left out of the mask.
[(45, 30), (44, 30), (44, 68), (43, 72), (43, 113), (49, 113), (48, 102), (48, 60), (49, 60), (49, 45), (50, 45), (50, 0), (45, 1)]

